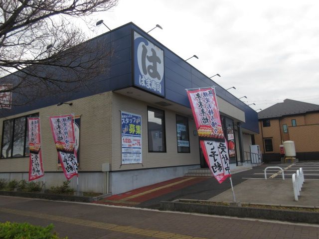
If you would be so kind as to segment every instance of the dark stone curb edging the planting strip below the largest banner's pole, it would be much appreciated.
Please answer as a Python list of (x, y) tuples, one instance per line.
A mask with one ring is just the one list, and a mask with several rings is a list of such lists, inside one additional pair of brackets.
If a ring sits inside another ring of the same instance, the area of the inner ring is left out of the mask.
[(319, 224), (319, 213), (316, 212), (220, 206), (194, 203), (194, 201), (203, 202), (203, 200), (184, 199), (177, 199), (172, 202), (162, 201), (160, 202), (160, 210)]

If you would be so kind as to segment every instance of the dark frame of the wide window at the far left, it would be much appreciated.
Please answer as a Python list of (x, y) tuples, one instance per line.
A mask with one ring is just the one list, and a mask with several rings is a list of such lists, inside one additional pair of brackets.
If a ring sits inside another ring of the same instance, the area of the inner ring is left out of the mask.
[[(34, 113), (34, 114), (30, 114), (30, 115), (26, 115), (26, 116), (21, 116), (21, 117), (16, 117), (16, 118), (12, 118), (12, 119), (6, 119), (2, 121), (2, 135), (1, 135), (1, 148), (0, 148), (0, 159), (10, 159), (10, 158), (25, 158), (25, 157), (29, 157), (29, 154), (26, 155), (26, 137), (27, 137), (27, 118), (33, 118), (33, 117), (39, 117), (39, 113)], [(17, 119), (21, 119), (24, 118), (24, 140), (23, 140), (23, 155), (22, 156), (13, 156), (13, 146), (14, 146), (14, 129), (15, 129), (15, 122)], [(4, 125), (5, 122), (8, 121), (12, 121), (12, 135), (11, 135), (11, 152), (10, 152), (10, 156), (8, 157), (2, 157), (2, 150), (3, 150), (3, 138), (4, 138)]]

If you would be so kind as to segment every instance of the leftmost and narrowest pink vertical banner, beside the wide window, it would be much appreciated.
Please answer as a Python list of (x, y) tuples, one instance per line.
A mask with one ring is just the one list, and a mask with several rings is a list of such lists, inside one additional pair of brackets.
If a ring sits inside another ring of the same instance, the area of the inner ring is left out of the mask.
[(40, 119), (28, 118), (28, 137), (29, 137), (29, 181), (44, 176), (41, 137), (40, 137)]

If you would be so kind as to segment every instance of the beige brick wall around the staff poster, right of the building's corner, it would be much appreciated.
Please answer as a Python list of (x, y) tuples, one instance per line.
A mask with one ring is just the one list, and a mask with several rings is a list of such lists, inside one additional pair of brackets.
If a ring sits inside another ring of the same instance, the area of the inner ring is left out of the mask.
[[(112, 170), (142, 169), (153, 167), (167, 167), (176, 165), (199, 164), (198, 137), (193, 135), (194, 120), (189, 123), (190, 153), (177, 153), (176, 113), (157, 105), (147, 104), (117, 93), (113, 93), (113, 158)], [(148, 152), (147, 107), (151, 106), (165, 111), (166, 152)], [(121, 166), (121, 111), (142, 116), (142, 164), (123, 164)], [(182, 115), (182, 114), (178, 114)], [(121, 166), (121, 167), (120, 167)]]

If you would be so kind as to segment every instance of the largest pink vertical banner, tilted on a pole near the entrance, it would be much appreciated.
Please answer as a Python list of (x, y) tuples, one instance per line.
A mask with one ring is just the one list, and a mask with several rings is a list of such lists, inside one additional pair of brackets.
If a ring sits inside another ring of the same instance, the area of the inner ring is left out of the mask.
[(230, 177), (225, 140), (214, 88), (187, 90), (200, 146), (207, 165), (219, 183)]

